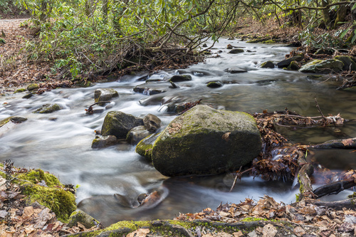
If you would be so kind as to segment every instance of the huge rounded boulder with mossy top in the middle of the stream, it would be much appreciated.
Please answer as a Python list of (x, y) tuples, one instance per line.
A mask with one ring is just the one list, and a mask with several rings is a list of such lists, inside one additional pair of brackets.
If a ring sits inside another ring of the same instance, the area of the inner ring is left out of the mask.
[(251, 115), (197, 105), (159, 135), (152, 162), (169, 177), (220, 174), (248, 164), (260, 151), (261, 135)]

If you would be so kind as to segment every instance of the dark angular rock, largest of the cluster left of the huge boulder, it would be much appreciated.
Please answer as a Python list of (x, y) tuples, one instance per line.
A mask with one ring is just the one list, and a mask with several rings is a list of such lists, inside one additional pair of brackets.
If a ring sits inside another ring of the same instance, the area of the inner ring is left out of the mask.
[(110, 111), (105, 116), (101, 134), (103, 136), (114, 135), (119, 138), (126, 138), (127, 132), (137, 126), (142, 126), (143, 120), (133, 115), (127, 115), (121, 111)]

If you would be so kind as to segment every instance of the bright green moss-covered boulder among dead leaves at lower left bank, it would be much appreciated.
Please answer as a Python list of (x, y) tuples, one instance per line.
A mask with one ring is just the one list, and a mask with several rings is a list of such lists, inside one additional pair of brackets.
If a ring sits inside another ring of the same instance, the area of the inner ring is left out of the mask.
[(70, 214), (76, 209), (75, 195), (66, 191), (65, 186), (53, 174), (34, 169), (19, 174), (16, 182), (21, 186), (21, 194), (26, 195), (28, 203), (37, 201), (38, 204), (51, 209), (63, 222), (67, 222)]

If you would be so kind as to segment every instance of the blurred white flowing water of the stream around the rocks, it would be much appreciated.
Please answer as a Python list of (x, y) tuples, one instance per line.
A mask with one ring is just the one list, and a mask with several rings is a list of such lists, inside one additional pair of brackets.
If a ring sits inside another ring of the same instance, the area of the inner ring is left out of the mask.
[[(245, 47), (245, 53), (229, 54), (227, 44)], [(298, 189), (291, 182), (263, 181), (244, 177), (229, 192), (234, 177), (184, 177), (167, 179), (135, 153), (129, 144), (117, 144), (106, 149), (92, 149), (94, 130), (100, 130), (108, 111), (120, 110), (144, 117), (157, 115), (163, 126), (175, 115), (161, 106), (164, 96), (174, 100), (195, 101), (225, 110), (261, 112), (262, 110), (294, 110), (301, 115), (318, 116), (314, 98), (325, 114), (341, 113), (346, 119), (356, 118), (356, 94), (335, 90), (335, 78), (325, 75), (323, 80), (311, 80), (307, 74), (282, 69), (263, 69), (258, 65), (266, 60), (278, 62), (292, 48), (283, 45), (248, 44), (221, 39), (212, 50), (219, 58), (184, 70), (159, 72), (150, 78), (164, 78), (178, 73), (189, 73), (192, 81), (177, 83), (178, 89), (169, 89), (158, 95), (134, 93), (132, 88), (143, 83), (142, 75), (125, 76), (111, 83), (98, 83), (90, 88), (52, 90), (28, 100), (21, 93), (0, 98), (0, 120), (21, 115), (28, 120), (0, 134), (0, 161), (11, 159), (16, 167), (41, 168), (55, 174), (65, 184), (79, 184), (77, 201), (80, 209), (98, 218), (105, 225), (120, 220), (173, 218), (179, 212), (196, 212), (206, 207), (215, 209), (220, 202), (239, 203), (246, 198), (259, 199), (263, 194), (276, 201), (295, 201)], [(226, 68), (239, 67), (248, 73), (231, 74)], [(219, 80), (221, 88), (207, 88), (206, 83)], [(93, 104), (97, 88), (113, 88), (120, 94), (111, 102), (111, 108), (102, 113), (85, 115), (85, 108)], [(57, 103), (63, 110), (52, 114), (33, 114), (43, 104)], [(281, 132), (293, 142), (320, 143), (329, 139), (356, 137), (356, 126), (345, 125), (336, 132), (334, 128), (289, 130)], [(350, 151), (314, 151), (313, 159), (330, 169), (356, 169), (356, 155)], [(337, 162), (336, 162), (337, 161)], [(318, 185), (318, 184), (317, 184)], [(142, 193), (159, 190), (162, 201), (151, 209), (132, 209), (122, 206), (114, 194), (128, 201)], [(334, 199), (343, 199), (344, 191)]]

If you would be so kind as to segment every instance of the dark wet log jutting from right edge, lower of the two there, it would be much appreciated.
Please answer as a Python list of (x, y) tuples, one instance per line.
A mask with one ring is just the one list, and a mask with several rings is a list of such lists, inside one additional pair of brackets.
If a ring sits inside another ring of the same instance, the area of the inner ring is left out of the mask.
[(317, 196), (317, 198), (320, 198), (330, 194), (338, 194), (342, 190), (352, 188), (352, 186), (356, 186), (356, 182), (353, 177), (350, 179), (335, 181), (331, 184), (325, 184), (318, 187), (318, 189), (315, 189), (313, 193)]

